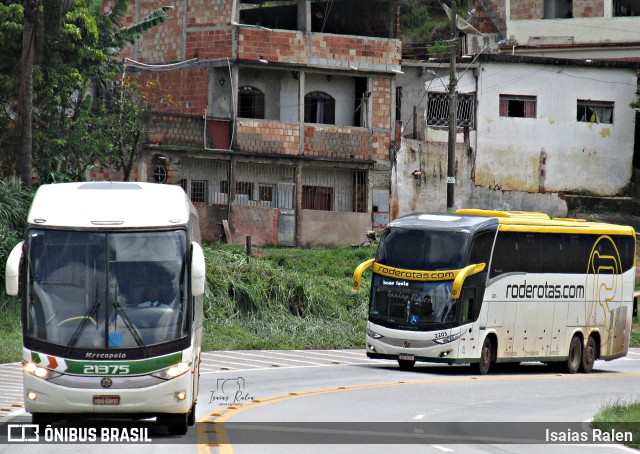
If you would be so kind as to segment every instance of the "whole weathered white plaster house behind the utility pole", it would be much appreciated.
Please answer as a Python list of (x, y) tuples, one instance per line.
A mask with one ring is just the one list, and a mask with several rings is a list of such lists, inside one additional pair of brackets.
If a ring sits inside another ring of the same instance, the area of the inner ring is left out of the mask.
[[(446, 210), (448, 66), (405, 63), (397, 77), (392, 215)], [(497, 54), (460, 64), (454, 207), (563, 216), (564, 192), (625, 191), (637, 67)]]

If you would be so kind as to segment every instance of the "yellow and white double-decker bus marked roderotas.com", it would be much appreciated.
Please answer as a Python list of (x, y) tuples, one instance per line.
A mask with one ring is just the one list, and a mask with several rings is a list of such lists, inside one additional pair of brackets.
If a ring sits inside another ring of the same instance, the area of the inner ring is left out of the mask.
[(389, 223), (372, 267), (367, 356), (398, 361), (541, 361), (569, 373), (626, 355), (633, 228), (542, 213), (458, 210)]

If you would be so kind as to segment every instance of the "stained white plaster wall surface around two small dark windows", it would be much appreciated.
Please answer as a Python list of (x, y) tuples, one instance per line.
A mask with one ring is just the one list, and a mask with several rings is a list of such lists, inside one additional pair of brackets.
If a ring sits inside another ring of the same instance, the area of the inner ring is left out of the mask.
[[(475, 183), (526, 192), (615, 195), (631, 179), (633, 69), (483, 64)], [(499, 95), (537, 96), (536, 118), (500, 117)], [(613, 124), (577, 121), (577, 100), (614, 103)]]

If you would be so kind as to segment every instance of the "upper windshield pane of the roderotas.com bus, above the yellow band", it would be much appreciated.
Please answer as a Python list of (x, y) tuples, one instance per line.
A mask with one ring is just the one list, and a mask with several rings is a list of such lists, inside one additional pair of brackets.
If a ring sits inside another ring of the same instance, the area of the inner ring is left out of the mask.
[(380, 240), (376, 262), (408, 270), (462, 268), (469, 234), (394, 227)]

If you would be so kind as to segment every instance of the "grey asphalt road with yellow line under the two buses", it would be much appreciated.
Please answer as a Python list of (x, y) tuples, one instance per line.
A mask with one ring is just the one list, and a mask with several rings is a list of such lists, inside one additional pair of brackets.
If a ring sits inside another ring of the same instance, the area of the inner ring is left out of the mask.
[[(7, 369), (0, 367), (2, 376)], [(484, 377), (465, 366), (418, 364), (413, 371), (401, 371), (395, 363), (366, 359), (361, 350), (210, 352), (202, 368), (200, 422), (187, 437), (168, 437), (145, 422), (152, 443), (97, 443), (91, 449), (144, 453), (178, 448), (202, 454), (637, 452), (608, 442), (540, 443), (546, 430), (580, 435), (583, 422), (604, 405), (640, 400), (639, 378), (637, 349), (626, 358), (598, 361), (592, 374), (566, 375), (530, 363)], [(0, 393), (3, 385), (0, 379)], [(19, 407), (13, 408), (0, 422), (30, 422)], [(12, 454), (84, 449), (81, 444), (0, 445), (0, 453)]]

